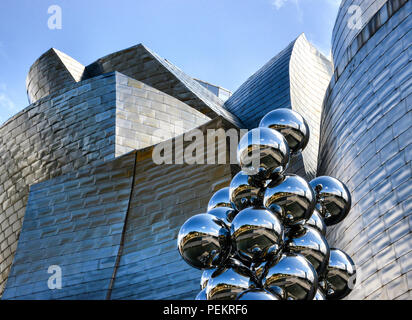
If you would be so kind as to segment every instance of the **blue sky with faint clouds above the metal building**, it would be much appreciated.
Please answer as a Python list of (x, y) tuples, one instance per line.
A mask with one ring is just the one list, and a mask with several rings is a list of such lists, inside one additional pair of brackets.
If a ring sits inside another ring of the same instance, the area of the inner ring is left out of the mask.
[[(339, 0), (1, 0), (0, 123), (28, 106), (25, 79), (51, 47), (84, 65), (143, 43), (235, 91), (300, 33), (329, 55)], [(50, 30), (48, 8), (62, 8)]]

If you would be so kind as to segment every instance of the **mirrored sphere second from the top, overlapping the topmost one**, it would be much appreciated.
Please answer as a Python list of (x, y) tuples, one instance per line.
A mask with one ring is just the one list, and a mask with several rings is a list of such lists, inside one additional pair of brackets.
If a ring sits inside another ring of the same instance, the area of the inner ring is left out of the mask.
[(283, 172), (289, 163), (289, 146), (276, 130), (256, 128), (245, 134), (237, 148), (237, 160), (242, 171), (269, 179), (275, 170)]

